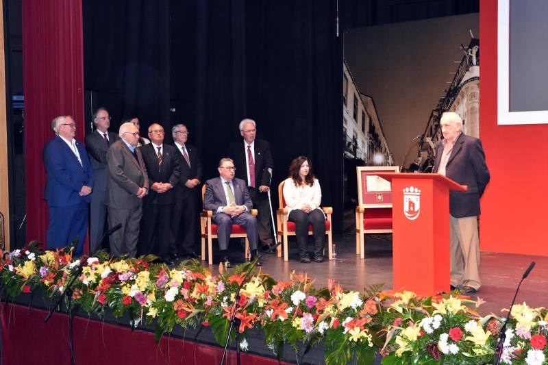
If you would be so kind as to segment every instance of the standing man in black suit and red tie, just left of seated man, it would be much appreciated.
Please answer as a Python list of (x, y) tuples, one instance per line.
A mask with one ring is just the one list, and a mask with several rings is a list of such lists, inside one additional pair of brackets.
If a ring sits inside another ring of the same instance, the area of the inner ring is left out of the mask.
[(188, 130), (184, 124), (171, 129), (181, 162), (179, 183), (175, 186), (175, 207), (171, 219), (171, 258), (199, 258), (196, 254), (198, 192), (202, 176), (201, 161), (194, 146), (186, 143)]

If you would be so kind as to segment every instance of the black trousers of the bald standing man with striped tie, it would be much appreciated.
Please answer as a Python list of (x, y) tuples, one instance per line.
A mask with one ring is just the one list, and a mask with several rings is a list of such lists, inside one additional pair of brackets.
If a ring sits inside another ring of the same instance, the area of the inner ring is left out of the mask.
[(143, 204), (138, 255), (153, 253), (162, 260), (169, 259), (169, 227), (173, 204)]

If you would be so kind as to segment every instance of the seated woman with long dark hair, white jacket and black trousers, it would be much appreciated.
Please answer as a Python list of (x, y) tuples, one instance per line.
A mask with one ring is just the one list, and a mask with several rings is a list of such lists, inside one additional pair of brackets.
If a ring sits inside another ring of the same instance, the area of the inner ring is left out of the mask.
[(314, 236), (314, 261), (323, 262), (325, 215), (320, 209), (320, 183), (312, 173), (308, 158), (299, 156), (291, 162), (289, 177), (284, 184), (284, 199), (289, 211), (288, 220), (295, 222), (295, 236), (299, 245), (301, 262), (310, 262), (306, 249), (309, 224), (312, 224)]

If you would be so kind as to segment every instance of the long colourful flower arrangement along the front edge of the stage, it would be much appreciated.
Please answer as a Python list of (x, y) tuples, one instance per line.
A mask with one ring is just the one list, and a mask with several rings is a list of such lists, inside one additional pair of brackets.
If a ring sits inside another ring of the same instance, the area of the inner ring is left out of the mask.
[[(87, 312), (127, 313), (132, 327), (145, 320), (155, 325), (157, 340), (175, 325), (210, 326), (221, 345), (235, 314), (243, 351), (246, 332), (260, 328), (279, 357), (285, 344), (296, 356), (299, 344), (306, 344), (304, 353), (323, 344), (327, 364), (371, 364), (377, 354), (382, 364), (489, 364), (504, 321), (495, 314), (480, 316), (481, 299), (389, 294), (379, 286), (346, 291), (332, 280), (327, 288), (315, 288), (306, 273), (275, 281), (249, 264), (212, 275), (197, 261), (169, 268), (151, 264), (153, 257), (112, 259), (101, 251), (74, 259), (68, 247), (43, 252), (34, 243), (1, 257), (0, 282), (10, 297), (38, 287), (58, 296), (74, 280), (73, 300)], [(514, 305), (501, 363), (543, 364), (547, 321), (543, 307)]]

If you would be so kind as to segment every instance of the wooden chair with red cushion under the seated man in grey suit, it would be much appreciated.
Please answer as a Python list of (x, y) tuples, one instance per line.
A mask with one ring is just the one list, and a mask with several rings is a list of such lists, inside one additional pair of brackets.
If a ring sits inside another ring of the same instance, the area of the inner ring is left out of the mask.
[[(203, 194), (206, 193), (206, 185), (201, 188), (201, 197), (203, 201)], [(257, 210), (252, 209), (251, 214), (257, 216)], [(213, 264), (213, 249), (212, 241), (217, 236), (217, 225), (212, 223), (211, 218), (213, 216), (212, 210), (203, 210), (200, 214), (200, 233), (201, 233), (201, 260), (206, 260), (206, 240), (208, 241), (208, 264)], [(247, 240), (247, 232), (244, 227), (240, 225), (232, 225), (230, 230), (230, 238), (245, 238), (245, 257), (249, 257), (249, 240)]]

